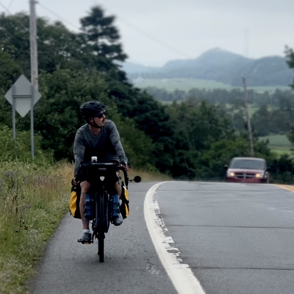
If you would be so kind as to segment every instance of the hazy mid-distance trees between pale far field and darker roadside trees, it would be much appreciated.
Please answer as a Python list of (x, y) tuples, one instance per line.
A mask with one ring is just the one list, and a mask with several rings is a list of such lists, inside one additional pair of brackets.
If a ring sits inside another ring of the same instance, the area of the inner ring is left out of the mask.
[[(168, 92), (165, 89), (147, 87), (145, 91), (158, 101), (185, 101), (188, 104), (190, 101), (209, 101), (212, 104), (226, 105), (232, 128), (244, 129), (246, 116), (244, 91), (241, 89), (191, 89)], [(248, 102), (257, 108), (251, 118), (257, 136), (287, 134), (294, 125), (294, 92), (292, 90), (276, 89), (273, 93), (248, 90)]]

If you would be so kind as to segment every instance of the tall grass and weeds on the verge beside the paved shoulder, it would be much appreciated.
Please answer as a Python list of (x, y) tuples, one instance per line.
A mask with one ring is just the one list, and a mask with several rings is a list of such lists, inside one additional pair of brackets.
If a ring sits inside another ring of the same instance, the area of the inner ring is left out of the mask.
[(0, 293), (27, 293), (25, 281), (68, 211), (72, 167), (0, 162)]

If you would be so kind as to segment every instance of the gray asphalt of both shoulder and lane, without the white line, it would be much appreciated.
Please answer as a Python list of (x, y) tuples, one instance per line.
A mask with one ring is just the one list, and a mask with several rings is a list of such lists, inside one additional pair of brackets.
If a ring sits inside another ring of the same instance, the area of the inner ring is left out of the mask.
[[(106, 234), (104, 263), (96, 243), (76, 242), (81, 221), (67, 215), (30, 293), (177, 293), (144, 220), (154, 184), (130, 184), (130, 216)], [(271, 184), (168, 182), (155, 199), (166, 234), (207, 294), (294, 293), (293, 192)]]

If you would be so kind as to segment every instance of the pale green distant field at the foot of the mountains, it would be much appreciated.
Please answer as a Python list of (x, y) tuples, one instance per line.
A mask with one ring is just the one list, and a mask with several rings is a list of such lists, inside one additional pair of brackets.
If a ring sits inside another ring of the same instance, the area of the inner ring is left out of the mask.
[[(240, 87), (232, 87), (230, 85), (226, 85), (221, 82), (216, 81), (208, 81), (208, 80), (201, 80), (201, 79), (134, 79), (132, 83), (135, 87), (138, 88), (146, 88), (146, 87), (157, 87), (161, 89), (165, 89), (167, 91), (174, 91), (174, 90), (183, 90), (188, 91), (193, 88), (198, 89), (226, 89), (232, 90), (234, 88), (242, 88)], [(241, 85), (241, 78), (240, 78), (240, 85)], [(248, 89), (254, 89), (258, 92), (274, 92), (277, 88), (281, 90), (289, 90), (287, 86), (268, 86), (268, 87), (248, 87)]]

